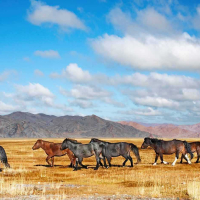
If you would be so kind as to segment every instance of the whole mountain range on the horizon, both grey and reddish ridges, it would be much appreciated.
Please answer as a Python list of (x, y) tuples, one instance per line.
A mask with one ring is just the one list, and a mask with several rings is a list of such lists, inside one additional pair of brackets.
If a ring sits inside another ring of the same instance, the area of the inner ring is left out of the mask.
[(194, 125), (113, 122), (96, 115), (61, 116), (14, 112), (0, 116), (1, 138), (196, 138), (200, 123)]

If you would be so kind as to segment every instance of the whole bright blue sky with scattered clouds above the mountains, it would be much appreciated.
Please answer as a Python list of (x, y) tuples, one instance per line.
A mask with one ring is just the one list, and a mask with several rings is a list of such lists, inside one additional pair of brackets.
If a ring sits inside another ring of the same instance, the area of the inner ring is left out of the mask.
[(200, 4), (0, 2), (0, 114), (200, 122)]

